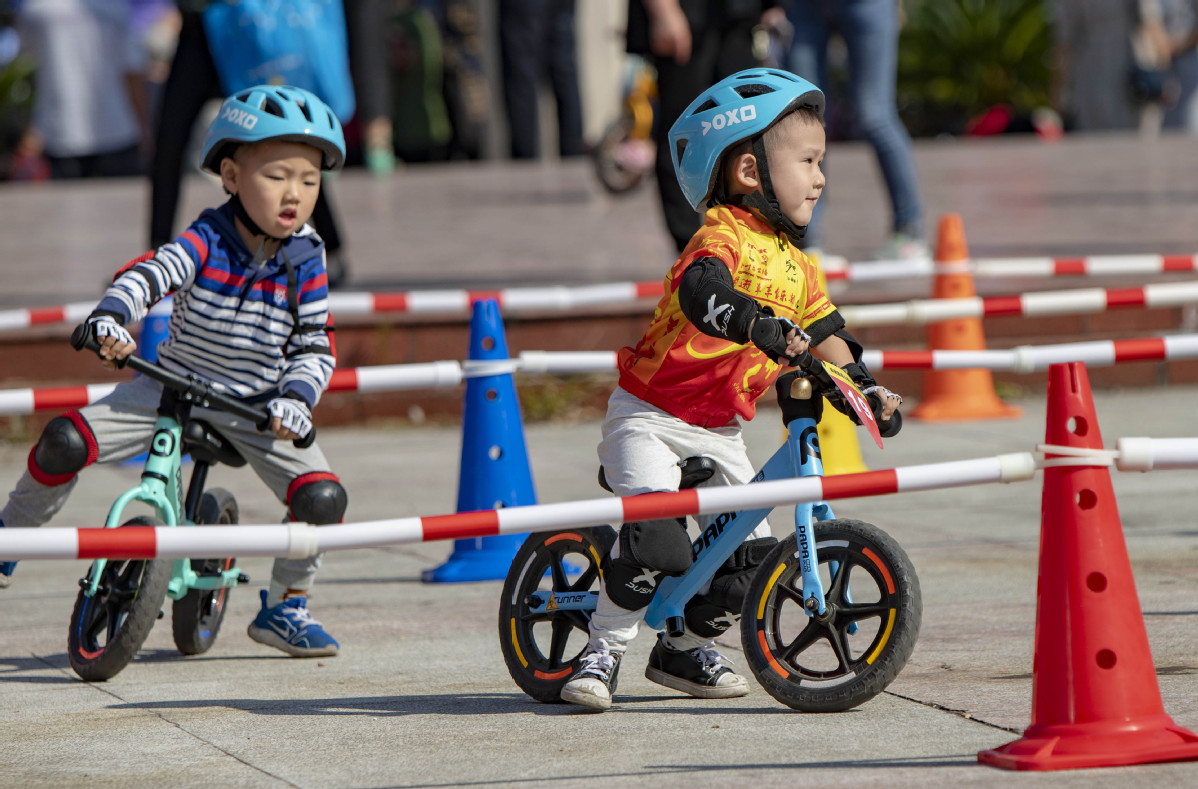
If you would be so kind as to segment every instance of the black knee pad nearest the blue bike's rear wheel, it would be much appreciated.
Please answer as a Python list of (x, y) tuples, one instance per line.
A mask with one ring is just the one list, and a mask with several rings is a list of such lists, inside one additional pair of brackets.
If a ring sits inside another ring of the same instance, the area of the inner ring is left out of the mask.
[(690, 538), (683, 518), (625, 523), (619, 529), (619, 558), (605, 563), (607, 596), (621, 608), (649, 605), (662, 577), (680, 576), (691, 565)]

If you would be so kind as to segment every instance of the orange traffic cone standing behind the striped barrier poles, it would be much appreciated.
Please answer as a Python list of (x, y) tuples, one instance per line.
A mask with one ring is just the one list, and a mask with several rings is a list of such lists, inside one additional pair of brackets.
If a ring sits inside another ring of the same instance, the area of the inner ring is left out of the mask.
[[(933, 298), (973, 298), (976, 291), (969, 273), (969, 250), (961, 214), (940, 219), (936, 244), (936, 285)], [(927, 327), (927, 347), (933, 351), (984, 351), (986, 336), (981, 318), (963, 317), (939, 321)], [(1014, 419), (1022, 411), (1009, 406), (994, 394), (994, 376), (990, 370), (930, 370), (924, 374), (924, 393), (910, 415), (926, 421), (967, 421), (972, 419)]]

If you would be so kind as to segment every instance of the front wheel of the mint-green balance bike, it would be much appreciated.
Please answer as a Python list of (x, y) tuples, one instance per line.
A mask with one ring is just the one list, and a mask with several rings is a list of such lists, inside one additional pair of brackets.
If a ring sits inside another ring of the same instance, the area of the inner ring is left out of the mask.
[[(122, 526), (162, 526), (141, 516)], [(167, 559), (109, 559), (96, 594), (79, 590), (67, 631), (67, 660), (91, 682), (116, 676), (145, 643), (170, 583)]]

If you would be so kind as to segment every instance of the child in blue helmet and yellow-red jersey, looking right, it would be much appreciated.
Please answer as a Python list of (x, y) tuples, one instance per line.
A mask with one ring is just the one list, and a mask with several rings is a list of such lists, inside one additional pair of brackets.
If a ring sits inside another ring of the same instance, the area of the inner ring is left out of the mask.
[[(618, 356), (619, 387), (599, 444), (617, 494), (678, 490), (679, 463), (694, 455), (715, 461), (709, 484), (749, 482), (755, 472), (738, 418), (752, 419), (757, 399), (809, 347), (863, 387), (882, 435), (898, 432), (902, 397), (870, 377), (815, 263), (794, 245), (824, 187), (823, 103), (806, 80), (754, 68), (704, 91), (670, 129), (683, 193), (707, 213), (666, 275), (645, 335)], [(685, 633), (658, 635), (648, 679), (700, 698), (749, 692), (713, 639), (739, 618), (749, 579), (775, 544), (763, 521), (686, 605)], [(611, 706), (621, 658), (657, 581), (685, 572), (691, 556), (682, 518), (621, 528), (591, 639), (562, 699)]]

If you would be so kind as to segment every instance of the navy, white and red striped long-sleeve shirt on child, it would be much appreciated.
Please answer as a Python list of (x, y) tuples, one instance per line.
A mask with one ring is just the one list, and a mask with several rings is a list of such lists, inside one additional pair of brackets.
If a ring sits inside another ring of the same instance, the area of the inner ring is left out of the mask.
[[(175, 241), (127, 266), (97, 310), (140, 321), (174, 293), (169, 334), (158, 348), (164, 368), (194, 372), (250, 401), (294, 393), (315, 406), (335, 365), (325, 328), (325, 244), (305, 225), (274, 257), (254, 265), (232, 217), (228, 204), (205, 211)], [(288, 261), (295, 272), (290, 289)]]

